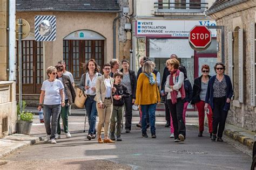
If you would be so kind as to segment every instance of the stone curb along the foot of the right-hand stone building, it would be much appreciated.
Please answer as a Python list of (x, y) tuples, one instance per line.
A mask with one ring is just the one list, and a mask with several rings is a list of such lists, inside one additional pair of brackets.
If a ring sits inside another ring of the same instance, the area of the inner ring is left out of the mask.
[(253, 148), (253, 143), (254, 143), (254, 140), (251, 139), (251, 138), (248, 138), (242, 134), (240, 134), (239, 132), (237, 131), (232, 131), (230, 129), (225, 129), (224, 130), (224, 134), (236, 141), (239, 141), (241, 144), (243, 145), (246, 145), (247, 147), (249, 148)]

